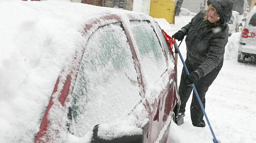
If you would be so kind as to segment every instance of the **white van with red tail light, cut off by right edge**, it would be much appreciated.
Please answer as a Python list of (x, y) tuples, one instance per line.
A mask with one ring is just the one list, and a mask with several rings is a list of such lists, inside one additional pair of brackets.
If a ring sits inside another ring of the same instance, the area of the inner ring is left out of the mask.
[(239, 39), (238, 62), (245, 58), (256, 57), (256, 6), (249, 13)]

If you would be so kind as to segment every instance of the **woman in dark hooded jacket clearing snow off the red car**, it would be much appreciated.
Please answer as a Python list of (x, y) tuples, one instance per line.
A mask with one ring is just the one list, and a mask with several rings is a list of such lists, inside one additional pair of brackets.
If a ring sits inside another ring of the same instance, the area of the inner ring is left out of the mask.
[[(181, 100), (179, 114), (184, 117), (185, 106), (192, 92), (191, 84), (195, 84), (200, 99), (205, 107), (205, 93), (213, 83), (223, 65), (225, 46), (228, 42), (228, 24), (232, 16), (233, 3), (230, 0), (208, 0), (206, 11), (201, 11), (191, 22), (173, 38), (182, 40), (185, 35), (187, 45), (187, 64), (191, 73), (187, 76), (183, 67), (179, 95)], [(204, 114), (193, 93), (190, 106), (193, 126), (204, 127)]]

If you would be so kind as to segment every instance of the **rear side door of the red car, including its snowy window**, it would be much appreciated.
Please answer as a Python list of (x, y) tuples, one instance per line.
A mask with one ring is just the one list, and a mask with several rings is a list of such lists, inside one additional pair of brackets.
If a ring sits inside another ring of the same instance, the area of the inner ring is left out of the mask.
[(156, 140), (160, 141), (163, 132), (169, 130), (171, 119), (168, 117), (172, 109), (173, 96), (170, 94), (167, 57), (149, 21), (130, 21), (130, 24), (145, 82), (145, 97), (152, 109), (149, 139), (146, 141), (153, 143)]

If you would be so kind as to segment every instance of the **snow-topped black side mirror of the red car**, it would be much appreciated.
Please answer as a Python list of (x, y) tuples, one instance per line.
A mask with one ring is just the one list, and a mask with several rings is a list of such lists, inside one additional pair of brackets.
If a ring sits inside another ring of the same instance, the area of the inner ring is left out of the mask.
[[(144, 143), (145, 127), (121, 126), (116, 128), (99, 129), (101, 124), (94, 126), (91, 143)], [(104, 137), (101, 137), (104, 135)]]

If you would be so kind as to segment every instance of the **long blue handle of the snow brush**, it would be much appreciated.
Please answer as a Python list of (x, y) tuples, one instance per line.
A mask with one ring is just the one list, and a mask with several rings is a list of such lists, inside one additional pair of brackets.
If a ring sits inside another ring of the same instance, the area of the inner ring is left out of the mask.
[[(174, 48), (178, 51), (178, 54), (179, 54), (180, 59), (181, 59), (181, 61), (182, 61), (182, 64), (184, 65), (185, 70), (186, 70), (186, 73), (187, 73), (187, 75), (189, 76), (189, 75), (190, 75), (190, 74), (189, 74), (189, 70), (188, 70), (188, 68), (187, 68), (186, 63), (184, 62), (184, 59), (182, 58), (182, 55), (181, 55), (181, 53), (180, 53), (179, 47), (178, 47), (178, 45), (177, 45), (176, 42), (174, 42)], [(195, 92), (195, 96), (196, 96), (196, 98), (197, 98), (197, 100), (198, 100), (198, 102), (199, 102), (199, 104), (200, 104), (200, 107), (201, 107), (201, 109), (202, 109), (202, 111), (203, 111), (203, 113), (204, 113), (204, 116), (205, 116), (205, 118), (206, 118), (206, 121), (207, 121), (207, 123), (208, 123), (208, 125), (209, 125), (210, 131), (212, 132), (212, 135), (213, 135), (213, 142), (214, 142), (214, 143), (218, 143), (218, 141), (217, 141), (217, 139), (216, 139), (216, 137), (215, 137), (215, 135), (214, 135), (213, 128), (212, 128), (212, 126), (210, 125), (210, 122), (209, 122), (208, 117), (207, 117), (207, 115), (206, 115), (206, 112), (205, 112), (205, 110), (204, 110), (204, 106), (203, 106), (203, 104), (202, 104), (202, 102), (201, 102), (201, 100), (200, 100), (200, 97), (199, 97), (199, 95), (198, 95), (198, 93), (197, 93), (197, 90), (196, 90), (196, 88), (195, 88), (195, 84), (192, 84), (192, 87), (193, 87), (193, 90), (194, 90), (194, 92)]]

